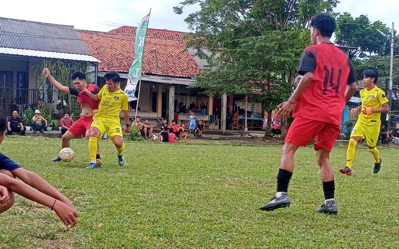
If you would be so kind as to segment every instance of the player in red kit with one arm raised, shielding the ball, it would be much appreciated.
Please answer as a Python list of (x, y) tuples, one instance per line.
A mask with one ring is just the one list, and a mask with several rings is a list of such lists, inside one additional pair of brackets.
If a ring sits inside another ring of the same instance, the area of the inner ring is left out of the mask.
[[(44, 68), (43, 75), (57, 88), (59, 91), (62, 91), (67, 94), (73, 94), (77, 97), (79, 101), (80, 108), (82, 110), (82, 116), (63, 134), (62, 136), (62, 148), (66, 148), (71, 146), (71, 139), (79, 138), (82, 135), (86, 135), (86, 132), (90, 130), (90, 125), (93, 122), (93, 116), (95, 114), (95, 110), (99, 109), (99, 102), (94, 101), (91, 97), (88, 97), (86, 94), (83, 94), (81, 91), (83, 88), (91, 91), (93, 94), (97, 94), (100, 91), (100, 88), (94, 84), (86, 83), (86, 74), (82, 71), (75, 71), (71, 75), (71, 80), (73, 80), (73, 84), (75, 88), (70, 88), (67, 86), (61, 85), (57, 80), (51, 76), (50, 71), (47, 68)], [(102, 165), (99, 147), (97, 146), (97, 165)], [(61, 161), (59, 156), (53, 159), (53, 161)]]

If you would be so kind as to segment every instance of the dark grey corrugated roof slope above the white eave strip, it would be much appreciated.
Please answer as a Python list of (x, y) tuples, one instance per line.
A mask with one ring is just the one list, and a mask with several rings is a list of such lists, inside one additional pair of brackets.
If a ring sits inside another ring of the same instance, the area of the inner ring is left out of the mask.
[(73, 26), (1, 17), (0, 47), (92, 55)]

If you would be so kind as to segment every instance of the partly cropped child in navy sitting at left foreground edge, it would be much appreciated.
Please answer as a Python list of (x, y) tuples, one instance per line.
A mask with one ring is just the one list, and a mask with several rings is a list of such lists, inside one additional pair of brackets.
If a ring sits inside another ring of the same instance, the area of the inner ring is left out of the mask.
[[(0, 109), (0, 144), (5, 138), (7, 117)], [(15, 179), (18, 177), (21, 181)], [(77, 211), (72, 202), (51, 186), (38, 174), (22, 168), (20, 165), (0, 153), (0, 213), (14, 204), (14, 192), (29, 200), (38, 202), (54, 210), (65, 226), (76, 225)]]

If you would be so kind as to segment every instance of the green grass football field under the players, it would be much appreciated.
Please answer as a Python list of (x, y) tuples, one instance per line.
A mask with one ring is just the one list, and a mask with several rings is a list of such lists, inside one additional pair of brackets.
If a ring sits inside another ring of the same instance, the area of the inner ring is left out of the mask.
[(101, 141), (102, 169), (86, 170), (87, 142), (74, 140), (75, 159), (53, 163), (61, 140), (8, 136), (0, 151), (68, 196), (79, 212), (66, 229), (54, 212), (17, 196), (0, 215), (0, 248), (399, 248), (396, 148), (380, 148), (381, 171), (358, 147), (352, 177), (338, 169), (339, 213), (314, 212), (323, 200), (311, 147), (296, 155), (289, 208), (261, 212), (275, 194), (279, 146), (226, 142), (127, 142), (125, 167), (110, 141)]

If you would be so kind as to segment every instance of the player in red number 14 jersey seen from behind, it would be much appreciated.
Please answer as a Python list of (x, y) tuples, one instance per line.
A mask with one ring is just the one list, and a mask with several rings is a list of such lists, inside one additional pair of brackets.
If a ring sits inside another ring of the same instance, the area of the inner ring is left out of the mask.
[(261, 206), (261, 210), (271, 211), (290, 205), (287, 190), (294, 170), (294, 154), (317, 136), (314, 149), (321, 169), (325, 201), (316, 212), (338, 213), (329, 156), (340, 134), (344, 106), (356, 92), (356, 76), (346, 55), (330, 42), (336, 27), (335, 19), (328, 14), (318, 14), (310, 27), (312, 46), (302, 53), (298, 70), (303, 77), (288, 101), (279, 105), (277, 113), (287, 117), (295, 105), (295, 119), (282, 148), (277, 193), (269, 203)]

